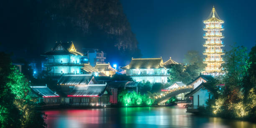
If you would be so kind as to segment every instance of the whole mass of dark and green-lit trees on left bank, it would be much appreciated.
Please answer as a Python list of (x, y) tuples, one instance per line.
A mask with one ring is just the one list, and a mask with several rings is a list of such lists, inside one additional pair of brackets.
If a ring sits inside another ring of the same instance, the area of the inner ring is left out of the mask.
[(0, 53), (1, 128), (45, 128), (43, 113), (33, 105), (28, 79), (11, 64), (10, 55)]

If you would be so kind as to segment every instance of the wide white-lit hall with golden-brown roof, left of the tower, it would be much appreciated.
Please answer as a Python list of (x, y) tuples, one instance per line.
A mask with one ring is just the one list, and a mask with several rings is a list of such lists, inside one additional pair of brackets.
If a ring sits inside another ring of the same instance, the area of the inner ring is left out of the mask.
[(132, 58), (130, 64), (122, 69), (125, 69), (126, 74), (134, 81), (142, 83), (167, 83), (169, 76), (169, 69), (164, 67), (162, 58)]

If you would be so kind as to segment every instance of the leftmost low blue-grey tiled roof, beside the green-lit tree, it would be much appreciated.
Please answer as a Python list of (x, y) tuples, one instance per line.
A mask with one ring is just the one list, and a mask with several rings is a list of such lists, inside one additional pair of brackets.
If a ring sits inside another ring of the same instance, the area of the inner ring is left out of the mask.
[(41, 97), (59, 97), (58, 94), (54, 93), (47, 86), (30, 86), (32, 92), (36, 95), (40, 95)]

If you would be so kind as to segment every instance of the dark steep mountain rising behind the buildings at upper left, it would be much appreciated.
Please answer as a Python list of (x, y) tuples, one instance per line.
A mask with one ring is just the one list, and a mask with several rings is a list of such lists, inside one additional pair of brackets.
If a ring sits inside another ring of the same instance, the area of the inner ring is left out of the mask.
[(0, 15), (0, 50), (16, 58), (36, 59), (56, 41), (100, 49), (119, 64), (141, 56), (119, 0), (4, 0)]

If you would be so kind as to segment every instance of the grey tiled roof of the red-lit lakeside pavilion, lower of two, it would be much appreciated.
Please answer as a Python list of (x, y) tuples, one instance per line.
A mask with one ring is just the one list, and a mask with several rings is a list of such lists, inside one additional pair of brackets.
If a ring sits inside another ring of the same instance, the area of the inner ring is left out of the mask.
[(106, 90), (106, 84), (88, 84), (85, 86), (75, 86), (68, 96), (74, 97), (98, 97)]

